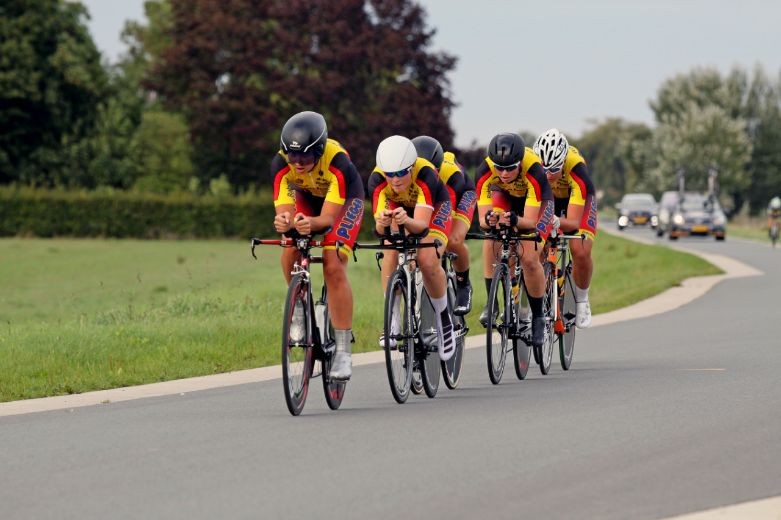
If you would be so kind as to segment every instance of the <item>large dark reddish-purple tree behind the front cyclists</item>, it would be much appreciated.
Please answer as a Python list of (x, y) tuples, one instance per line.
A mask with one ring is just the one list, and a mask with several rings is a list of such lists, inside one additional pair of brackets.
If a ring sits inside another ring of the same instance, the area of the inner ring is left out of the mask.
[(268, 180), (285, 120), (325, 115), (367, 176), (388, 135), (450, 146), (454, 58), (410, 0), (171, 0), (171, 45), (147, 76), (190, 128), (202, 182)]

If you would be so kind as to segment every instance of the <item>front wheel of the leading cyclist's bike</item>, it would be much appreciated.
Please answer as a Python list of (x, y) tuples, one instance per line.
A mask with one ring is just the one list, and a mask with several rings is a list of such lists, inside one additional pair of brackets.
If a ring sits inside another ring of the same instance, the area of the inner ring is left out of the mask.
[[(292, 341), (290, 328), (293, 314), (301, 313), (304, 318), (304, 337), (301, 341)], [(298, 415), (304, 409), (306, 395), (309, 392), (309, 377), (312, 375), (314, 351), (312, 349), (311, 303), (309, 285), (301, 275), (295, 275), (285, 299), (285, 314), (282, 321), (282, 383), (285, 390), (285, 402), (292, 415)]]

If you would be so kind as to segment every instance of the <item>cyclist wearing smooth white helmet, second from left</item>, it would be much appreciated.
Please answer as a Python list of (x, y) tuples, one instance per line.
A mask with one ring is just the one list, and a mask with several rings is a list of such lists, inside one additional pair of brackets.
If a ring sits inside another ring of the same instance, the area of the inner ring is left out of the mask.
[[(428, 228), (423, 242), (442, 242), (440, 254), (447, 247), (451, 228), (450, 196), (444, 183), (426, 159), (418, 157), (415, 145), (406, 137), (392, 135), (377, 148), (377, 167), (369, 177), (376, 230), (404, 226), (410, 233)], [(397, 265), (398, 253), (386, 252), (382, 262), (383, 294)], [(447, 280), (434, 248), (422, 248), (417, 255), (423, 285), (431, 299), (436, 316), (439, 357), (447, 361), (455, 352), (453, 321), (447, 309)], [(394, 315), (395, 317), (395, 315)], [(400, 322), (392, 322), (395, 329)], [(384, 338), (383, 338), (384, 339)], [(384, 341), (380, 342), (384, 345)]]

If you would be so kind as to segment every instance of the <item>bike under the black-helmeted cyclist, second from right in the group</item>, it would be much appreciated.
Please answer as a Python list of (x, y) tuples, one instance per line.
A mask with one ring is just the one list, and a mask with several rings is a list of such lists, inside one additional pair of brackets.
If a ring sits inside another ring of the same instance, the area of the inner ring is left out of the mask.
[(507, 352), (513, 351), (513, 366), (518, 379), (525, 379), (531, 357), (531, 320), (520, 319), (520, 303), (525, 292), (518, 247), (521, 241), (540, 242), (537, 233), (519, 234), (510, 226), (482, 233), (467, 233), (467, 238), (491, 240), (499, 244), (497, 263), (488, 291), (486, 323), (486, 360), (488, 377), (498, 385), (504, 374)]

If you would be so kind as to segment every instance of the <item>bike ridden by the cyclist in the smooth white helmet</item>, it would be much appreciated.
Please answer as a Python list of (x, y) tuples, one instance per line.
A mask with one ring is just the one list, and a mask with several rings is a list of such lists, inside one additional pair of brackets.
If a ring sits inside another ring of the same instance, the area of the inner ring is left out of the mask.
[[(441, 242), (422, 242), (427, 234), (428, 229), (417, 234), (406, 233), (403, 227), (399, 228), (398, 233), (391, 233), (390, 229), (387, 229), (380, 237), (379, 244), (356, 243), (354, 247), (355, 250), (381, 249), (398, 252), (397, 269), (391, 274), (385, 291), (383, 349), (391, 393), (400, 404), (407, 401), (410, 392), (419, 393), (422, 389), (428, 397), (433, 398), (439, 388), (441, 362), (437, 353), (437, 336), (440, 331), (434, 326), (436, 318), (433, 306), (423, 287), (416, 258), (418, 249), (438, 248)], [(376, 253), (377, 265), (380, 268), (383, 256), (382, 251)], [(441, 258), (439, 252), (437, 256)], [(454, 303), (455, 295), (452, 295), (448, 298), (448, 312), (451, 316)], [(464, 329), (454, 327), (454, 333), (463, 345)], [(457, 383), (453, 373), (445, 379), (448, 386), (453, 381)]]

